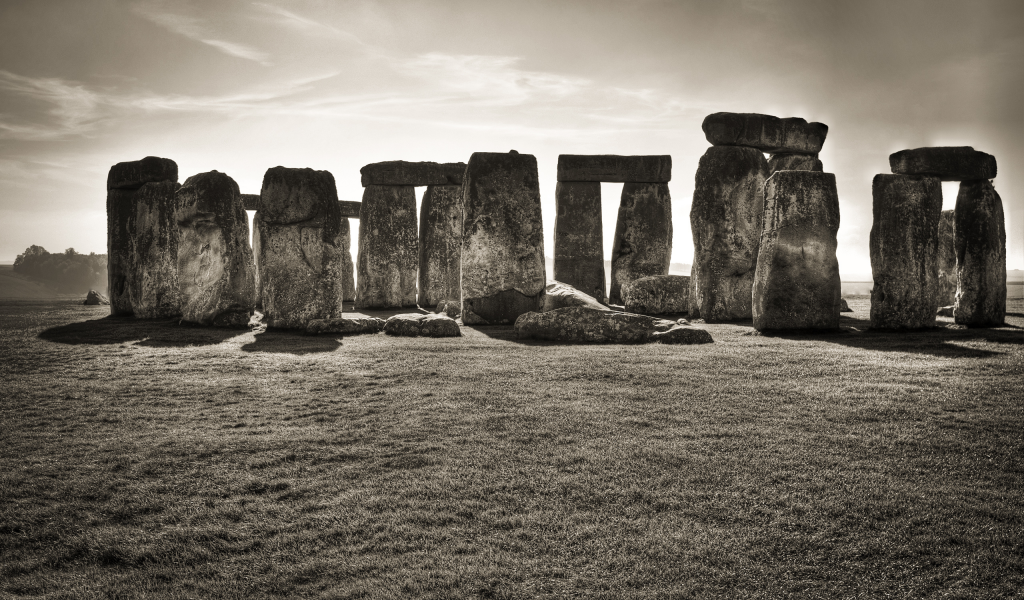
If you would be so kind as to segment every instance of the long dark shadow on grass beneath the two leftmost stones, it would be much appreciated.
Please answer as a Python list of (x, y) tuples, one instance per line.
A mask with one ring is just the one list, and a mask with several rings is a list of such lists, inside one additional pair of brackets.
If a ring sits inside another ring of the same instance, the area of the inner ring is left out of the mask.
[(39, 339), (58, 344), (123, 344), (154, 347), (210, 346), (232, 338), (240, 330), (178, 324), (177, 319), (105, 316), (44, 330)]

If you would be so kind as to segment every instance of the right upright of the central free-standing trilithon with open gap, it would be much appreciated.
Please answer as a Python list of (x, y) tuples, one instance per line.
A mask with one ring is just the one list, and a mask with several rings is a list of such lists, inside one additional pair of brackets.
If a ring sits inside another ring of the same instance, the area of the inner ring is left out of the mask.
[(668, 183), (626, 183), (611, 242), (609, 302), (622, 303), (623, 286), (669, 272), (672, 197)]

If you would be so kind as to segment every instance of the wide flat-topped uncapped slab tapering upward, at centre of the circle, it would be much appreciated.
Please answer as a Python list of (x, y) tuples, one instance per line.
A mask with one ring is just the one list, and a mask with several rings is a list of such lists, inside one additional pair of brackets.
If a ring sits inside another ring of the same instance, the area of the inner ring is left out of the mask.
[(463, 192), (463, 323), (514, 324), (538, 310), (547, 280), (537, 159), (473, 153)]

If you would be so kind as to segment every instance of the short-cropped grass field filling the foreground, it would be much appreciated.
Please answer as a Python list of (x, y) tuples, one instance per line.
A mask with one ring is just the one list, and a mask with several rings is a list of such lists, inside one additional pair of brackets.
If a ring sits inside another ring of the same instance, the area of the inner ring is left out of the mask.
[(2, 303), (0, 596), (1022, 597), (1024, 302), (850, 304), (565, 346)]

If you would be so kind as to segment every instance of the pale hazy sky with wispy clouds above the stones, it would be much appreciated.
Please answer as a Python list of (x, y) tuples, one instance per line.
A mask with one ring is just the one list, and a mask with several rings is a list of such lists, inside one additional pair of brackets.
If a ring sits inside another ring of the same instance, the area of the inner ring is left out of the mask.
[[(514, 148), (538, 159), (549, 256), (559, 154), (671, 155), (689, 263), (717, 112), (828, 125), (845, 280), (869, 278), (871, 178), (927, 145), (995, 156), (1024, 268), (1018, 0), (4, 0), (0, 261), (105, 252), (106, 172), (145, 156), (244, 194), (270, 167), (325, 169), (359, 200), (369, 163)], [(602, 184), (606, 257), (621, 189)]]

